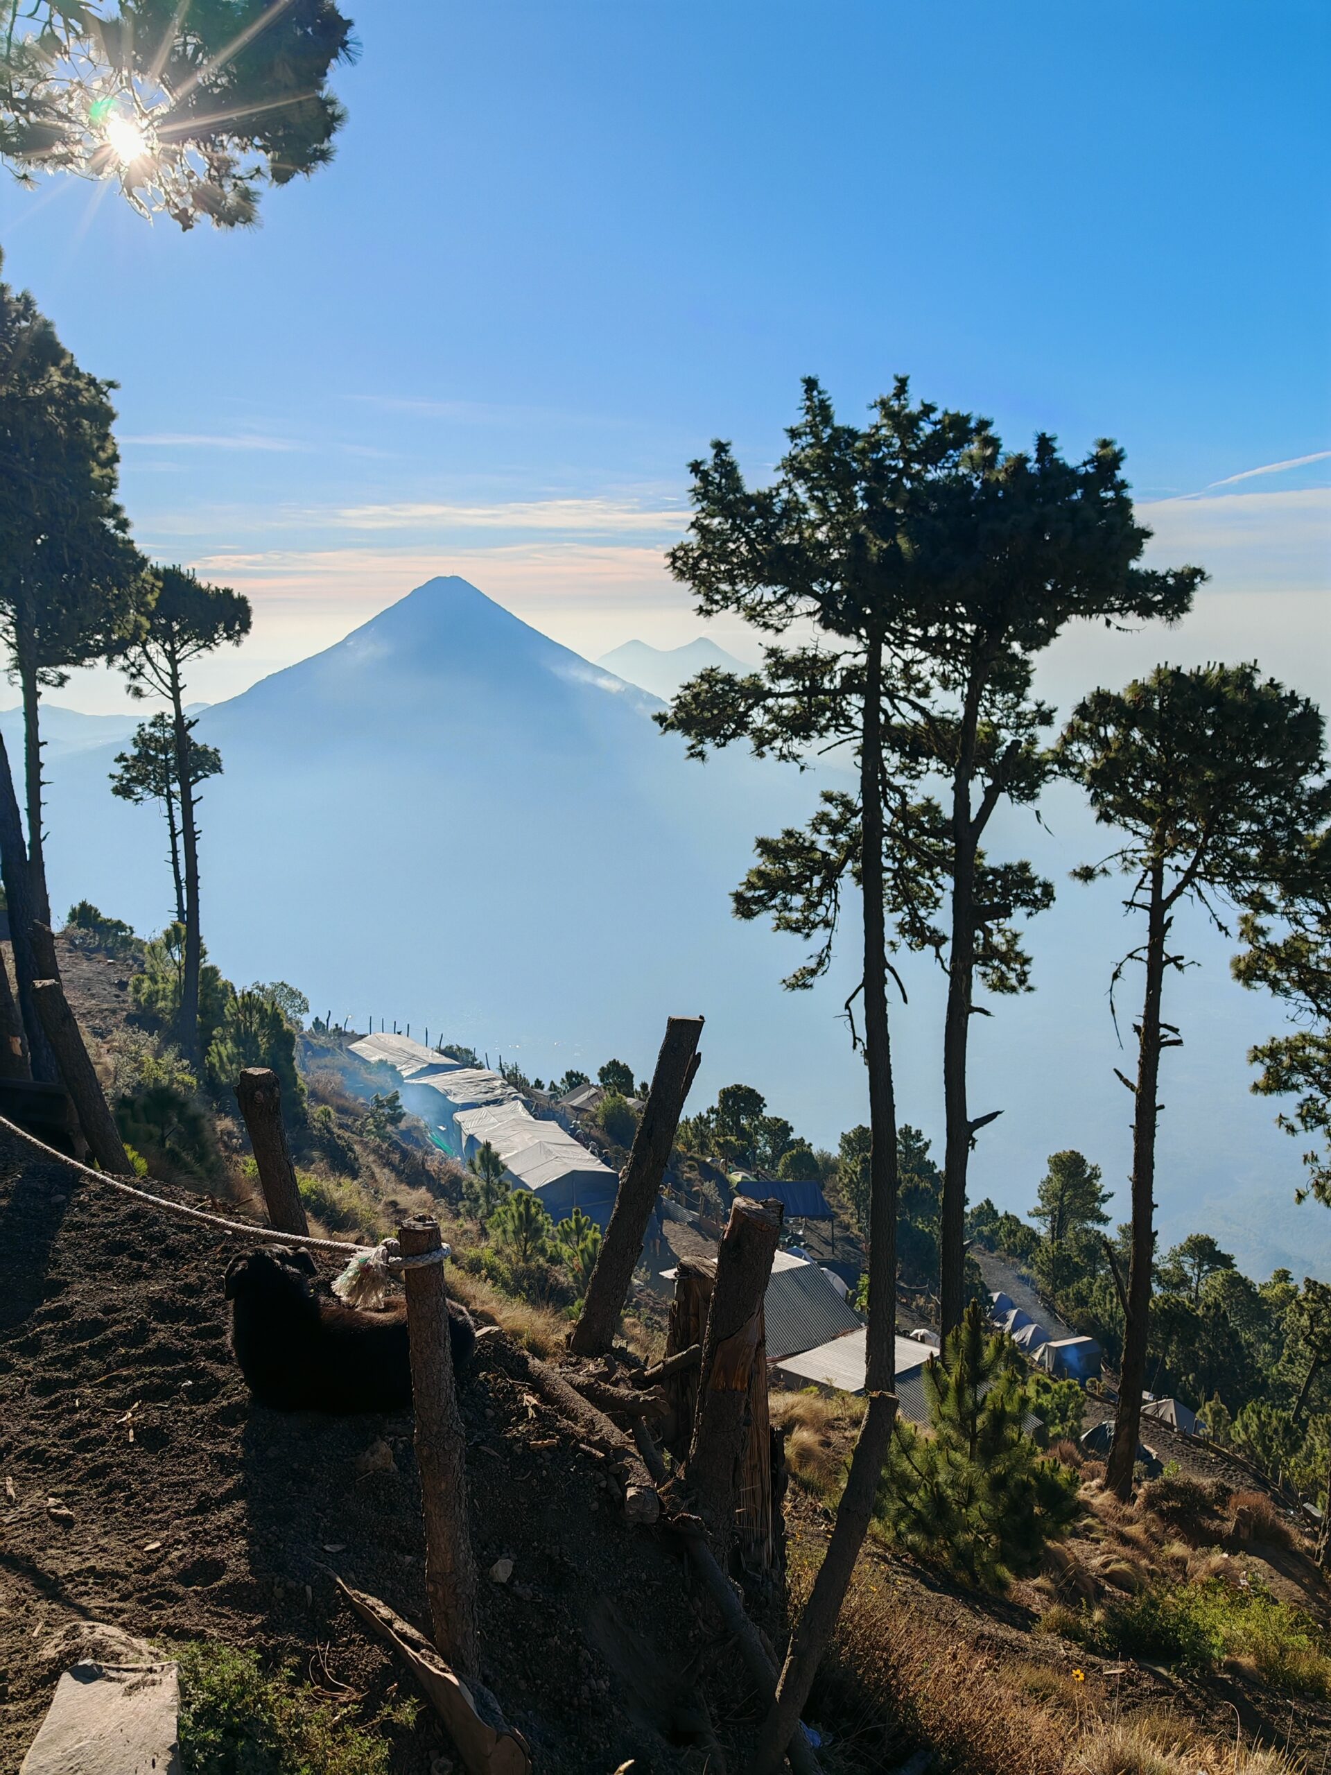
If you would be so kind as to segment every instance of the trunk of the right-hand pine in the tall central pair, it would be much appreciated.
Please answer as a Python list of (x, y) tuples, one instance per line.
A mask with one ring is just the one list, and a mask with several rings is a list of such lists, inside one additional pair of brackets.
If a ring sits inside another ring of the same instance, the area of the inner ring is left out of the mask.
[(965, 1069), (974, 994), (974, 863), (978, 832), (971, 816), (981, 673), (965, 689), (951, 785), (951, 934), (948, 943), (948, 1014), (942, 1026), (942, 1225), (939, 1230), (939, 1305), (942, 1340), (962, 1322), (965, 1292), (965, 1173), (971, 1163), (971, 1109)]

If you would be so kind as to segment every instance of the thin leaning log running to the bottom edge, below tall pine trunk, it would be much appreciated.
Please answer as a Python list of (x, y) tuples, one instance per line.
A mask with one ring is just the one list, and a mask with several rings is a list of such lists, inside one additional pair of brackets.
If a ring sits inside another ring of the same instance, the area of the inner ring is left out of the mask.
[(804, 1702), (809, 1699), (813, 1679), (836, 1628), (836, 1617), (841, 1613), (841, 1603), (873, 1518), (873, 1500), (878, 1491), (882, 1463), (887, 1459), (894, 1416), (896, 1399), (891, 1393), (870, 1397), (855, 1452), (850, 1457), (847, 1489), (836, 1507), (832, 1539), (827, 1542), (827, 1553), (813, 1580), (809, 1601), (790, 1637), (777, 1697), (763, 1720), (758, 1750), (747, 1775), (776, 1775), (788, 1747), (795, 1743)]

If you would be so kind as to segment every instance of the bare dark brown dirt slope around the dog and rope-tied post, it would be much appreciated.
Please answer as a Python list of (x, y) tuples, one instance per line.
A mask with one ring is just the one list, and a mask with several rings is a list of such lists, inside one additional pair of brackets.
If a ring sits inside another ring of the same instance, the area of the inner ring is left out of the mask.
[[(73, 1619), (254, 1645), (348, 1684), (366, 1718), (392, 1699), (399, 1672), (334, 1573), (426, 1622), (410, 1418), (250, 1402), (222, 1299), (243, 1246), (0, 1140), (0, 1768), (50, 1702), (41, 1644)], [(483, 1573), (515, 1560), (511, 1583), (481, 1582), (486, 1684), (541, 1770), (701, 1768), (666, 1736), (697, 1727), (678, 1684), (699, 1677), (722, 1741), (745, 1697), (703, 1668), (673, 1548), (623, 1523), (484, 1344), (463, 1393), (474, 1539)], [(380, 1441), (392, 1464), (358, 1477)], [(424, 1775), (445, 1743), (422, 1713), (394, 1770)]]

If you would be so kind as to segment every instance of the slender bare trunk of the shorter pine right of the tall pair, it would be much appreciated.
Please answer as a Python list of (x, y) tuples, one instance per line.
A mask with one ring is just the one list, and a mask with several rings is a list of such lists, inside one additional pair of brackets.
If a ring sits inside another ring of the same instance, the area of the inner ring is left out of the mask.
[(1146, 990), (1138, 1030), (1136, 1113), (1132, 1116), (1132, 1257), (1127, 1271), (1123, 1315), (1123, 1363), (1118, 1377), (1118, 1418), (1109, 1450), (1106, 1484), (1114, 1496), (1132, 1496), (1132, 1468), (1141, 1434), (1141, 1392), (1146, 1384), (1146, 1337), (1150, 1331), (1150, 1283), (1155, 1260), (1155, 1122), (1161, 1083), (1161, 992), (1164, 987), (1164, 939), (1170, 916), (1164, 907), (1164, 864), (1150, 870), (1146, 909)]

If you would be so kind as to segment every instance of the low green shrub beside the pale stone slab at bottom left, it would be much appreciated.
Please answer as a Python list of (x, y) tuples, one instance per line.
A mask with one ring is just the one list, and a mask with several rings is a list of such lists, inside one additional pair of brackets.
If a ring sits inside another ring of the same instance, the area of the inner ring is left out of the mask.
[[(270, 1676), (254, 1653), (201, 1640), (172, 1653), (185, 1775), (387, 1775), (390, 1740), (348, 1722), (291, 1670)], [(413, 1720), (415, 1702), (403, 1702), (374, 1724)]]

